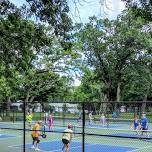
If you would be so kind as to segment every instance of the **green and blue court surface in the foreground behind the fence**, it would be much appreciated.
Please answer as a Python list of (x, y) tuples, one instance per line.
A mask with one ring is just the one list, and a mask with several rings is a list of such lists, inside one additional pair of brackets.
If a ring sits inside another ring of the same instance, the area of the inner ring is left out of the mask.
[[(15, 124), (14, 124), (15, 125)], [(16, 124), (16, 127), (19, 124)], [(61, 137), (65, 127), (54, 127), (54, 132), (47, 132), (47, 138), (41, 138), (40, 148), (43, 152), (59, 152), (62, 147)], [(81, 127), (75, 127), (74, 132), (81, 133)], [(136, 136), (135, 132), (116, 129), (116, 128), (99, 128), (99, 127), (86, 127), (85, 132), (85, 149), (86, 152), (152, 152), (152, 132), (149, 132), (149, 139), (144, 138), (123, 138), (123, 136)], [(0, 130), (0, 151), (1, 152), (22, 152), (23, 151), (23, 130)], [(31, 131), (26, 131), (26, 152), (33, 152), (31, 149)], [(88, 135), (96, 134), (96, 135)], [(100, 135), (122, 135), (122, 138), (108, 137)], [(54, 149), (51, 149), (55, 146)], [(75, 134), (70, 152), (82, 151), (82, 136)]]

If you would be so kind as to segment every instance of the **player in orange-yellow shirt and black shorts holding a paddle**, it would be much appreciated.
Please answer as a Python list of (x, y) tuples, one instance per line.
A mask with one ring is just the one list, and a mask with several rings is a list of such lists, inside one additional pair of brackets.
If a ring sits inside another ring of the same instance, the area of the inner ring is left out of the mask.
[(32, 139), (33, 139), (32, 148), (34, 148), (37, 151), (40, 151), (40, 149), (38, 148), (38, 145), (40, 143), (39, 136), (41, 136), (40, 134), (41, 127), (42, 127), (42, 122), (38, 121), (35, 123), (35, 125), (32, 128), (32, 134), (31, 134)]

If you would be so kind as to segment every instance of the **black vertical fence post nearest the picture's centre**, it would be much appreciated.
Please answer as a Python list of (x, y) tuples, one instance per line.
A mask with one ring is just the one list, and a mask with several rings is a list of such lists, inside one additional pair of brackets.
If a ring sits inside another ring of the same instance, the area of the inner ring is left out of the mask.
[(83, 112), (83, 119), (82, 119), (82, 152), (85, 152), (85, 104), (82, 103), (82, 112)]

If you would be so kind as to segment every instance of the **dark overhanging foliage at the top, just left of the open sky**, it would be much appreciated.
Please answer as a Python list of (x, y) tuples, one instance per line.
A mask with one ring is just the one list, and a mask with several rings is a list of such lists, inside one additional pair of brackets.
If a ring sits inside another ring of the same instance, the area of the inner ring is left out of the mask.
[(30, 14), (37, 20), (48, 23), (56, 36), (61, 36), (60, 43), (67, 50), (71, 49), (72, 42), (69, 31), (72, 30), (72, 20), (68, 16), (69, 7), (66, 0), (26, 0), (30, 6)]

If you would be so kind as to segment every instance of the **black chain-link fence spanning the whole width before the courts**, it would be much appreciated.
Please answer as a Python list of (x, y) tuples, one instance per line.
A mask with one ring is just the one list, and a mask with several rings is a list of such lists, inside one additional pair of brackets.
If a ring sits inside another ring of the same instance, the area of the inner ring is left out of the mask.
[(62, 151), (67, 128), (70, 152), (149, 152), (152, 102), (0, 103), (0, 151)]

